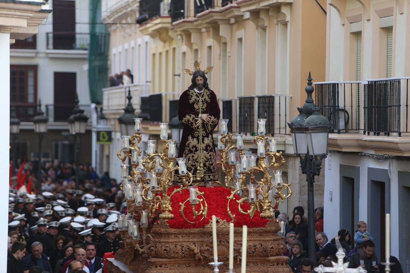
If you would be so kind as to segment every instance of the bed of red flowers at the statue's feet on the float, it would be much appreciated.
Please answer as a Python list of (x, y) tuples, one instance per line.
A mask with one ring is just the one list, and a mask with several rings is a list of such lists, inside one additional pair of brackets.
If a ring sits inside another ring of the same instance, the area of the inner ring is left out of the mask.
[[(173, 190), (178, 187), (179, 186), (170, 187), (168, 189), (168, 195), (170, 195)], [(187, 201), (185, 203), (186, 207), (184, 209), (184, 214), (189, 221), (194, 223), (188, 223), (187, 221), (185, 221), (185, 219), (182, 218), (182, 214), (179, 211), (181, 208), (179, 203), (183, 203), (185, 200), (189, 199), (189, 190), (182, 190), (182, 193), (177, 192), (171, 197), (171, 213), (174, 215), (174, 218), (168, 220), (170, 228), (203, 228), (205, 225), (210, 223), (212, 215), (215, 215), (216, 217), (219, 217), (220, 219), (226, 220), (228, 222), (231, 221), (231, 218), (229, 217), (227, 212), (228, 199), (226, 198), (231, 194), (230, 190), (224, 187), (198, 187), (198, 190), (200, 192), (204, 192), (203, 196), (205, 197), (205, 201), (208, 205), (207, 217), (202, 219), (202, 221), (199, 221), (202, 218), (202, 215), (196, 217), (196, 219), (193, 219), (191, 205), (189, 204), (189, 201)], [(198, 198), (201, 197), (198, 196)], [(249, 214), (243, 214), (239, 212), (238, 203), (236, 202), (236, 200), (239, 200), (240, 198), (240, 196), (236, 196), (235, 200), (232, 200), (229, 203), (230, 211), (235, 215), (236, 221), (233, 222), (235, 227), (242, 227), (246, 225), (248, 226), (248, 228), (258, 228), (266, 226), (268, 220), (260, 218), (260, 212), (256, 211), (253, 218), (249, 217)], [(244, 202), (244, 204), (241, 205), (241, 208), (244, 211), (248, 211), (250, 205)], [(196, 211), (198, 212), (199, 209), (200, 205), (198, 204), (196, 205)]]

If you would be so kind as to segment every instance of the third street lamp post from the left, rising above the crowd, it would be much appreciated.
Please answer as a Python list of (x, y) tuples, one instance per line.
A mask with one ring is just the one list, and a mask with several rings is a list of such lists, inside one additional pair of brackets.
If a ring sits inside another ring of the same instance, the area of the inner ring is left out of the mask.
[(85, 134), (87, 129), (88, 117), (84, 115), (84, 110), (80, 109), (78, 105), (78, 94), (75, 93), (75, 106), (73, 109), (73, 114), (68, 117), (68, 131), (70, 135), (74, 136), (74, 161), (75, 161), (75, 189), (80, 187), (79, 174), (79, 162), (80, 162), (80, 139), (81, 135)]

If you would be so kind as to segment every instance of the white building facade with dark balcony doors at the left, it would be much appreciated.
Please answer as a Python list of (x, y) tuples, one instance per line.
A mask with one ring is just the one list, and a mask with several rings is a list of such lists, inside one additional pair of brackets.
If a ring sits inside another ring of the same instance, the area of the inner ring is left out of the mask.
[[(53, 12), (38, 28), (38, 34), (16, 40), (10, 47), (10, 105), (21, 120), (17, 139), (18, 158), (38, 158), (37, 137), (32, 118), (41, 100), (48, 116), (48, 132), (43, 140), (43, 162), (74, 160), (74, 140), (68, 134), (75, 94), (80, 108), (91, 117), (88, 85), (89, 1), (50, 0)], [(91, 161), (91, 118), (83, 136), (80, 163)]]

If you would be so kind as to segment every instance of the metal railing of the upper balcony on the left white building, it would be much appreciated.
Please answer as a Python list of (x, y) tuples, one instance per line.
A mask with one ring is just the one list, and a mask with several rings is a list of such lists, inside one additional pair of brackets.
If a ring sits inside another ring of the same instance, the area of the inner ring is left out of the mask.
[(78, 32), (47, 32), (48, 50), (88, 50), (89, 33)]

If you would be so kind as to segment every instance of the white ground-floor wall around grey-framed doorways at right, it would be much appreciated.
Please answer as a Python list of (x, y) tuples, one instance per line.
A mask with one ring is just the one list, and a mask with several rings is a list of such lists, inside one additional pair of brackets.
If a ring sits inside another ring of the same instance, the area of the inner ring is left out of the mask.
[[(331, 166), (329, 169), (329, 160)], [(340, 209), (340, 181), (339, 165), (360, 166), (360, 199), (359, 199), (359, 218), (360, 221), (368, 222), (367, 215), (367, 168), (389, 169), (389, 160), (376, 160), (367, 156), (346, 155), (341, 153), (329, 153), (326, 158), (325, 194), (324, 194), (324, 232), (333, 238), (340, 229), (339, 209)], [(390, 212), (391, 212), (391, 251), (392, 255), (399, 257), (399, 195), (398, 171), (409, 171), (409, 162), (403, 160), (391, 160), (390, 177)], [(333, 190), (333, 200), (329, 201), (329, 190)], [(369, 232), (371, 227), (369, 226)], [(383, 235), (382, 235), (383, 236)], [(380, 257), (379, 257), (380, 259)]]

